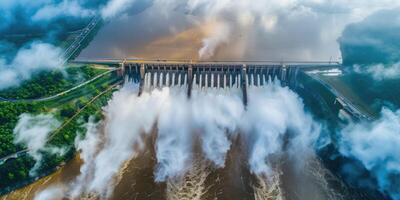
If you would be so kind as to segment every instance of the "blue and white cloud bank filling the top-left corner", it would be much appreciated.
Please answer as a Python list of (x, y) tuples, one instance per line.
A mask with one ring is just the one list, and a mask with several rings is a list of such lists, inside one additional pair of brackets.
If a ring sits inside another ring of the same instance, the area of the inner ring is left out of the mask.
[(59, 35), (76, 31), (100, 12), (107, 15), (103, 17), (112, 18), (132, 2), (2, 0), (0, 36), (4, 37), (0, 37), (0, 90), (18, 86), (36, 72), (62, 69), (63, 49), (54, 46), (60, 43)]

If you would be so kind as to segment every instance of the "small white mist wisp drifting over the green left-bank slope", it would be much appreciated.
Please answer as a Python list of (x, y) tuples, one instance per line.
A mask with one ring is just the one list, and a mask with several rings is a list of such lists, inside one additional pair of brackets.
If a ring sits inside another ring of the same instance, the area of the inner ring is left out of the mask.
[(56, 147), (45, 147), (49, 134), (58, 128), (61, 123), (51, 114), (22, 114), (19, 116), (17, 125), (14, 128), (14, 143), (24, 144), (28, 148), (28, 153), (36, 163), (30, 170), (34, 175), (42, 161), (41, 151), (47, 151), (52, 154), (63, 154), (63, 149)]

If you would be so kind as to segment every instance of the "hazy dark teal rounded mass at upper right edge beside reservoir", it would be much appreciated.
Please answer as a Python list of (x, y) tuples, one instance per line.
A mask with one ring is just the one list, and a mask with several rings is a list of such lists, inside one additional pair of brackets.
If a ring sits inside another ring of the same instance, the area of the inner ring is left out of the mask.
[(382, 10), (347, 26), (339, 38), (343, 63), (376, 65), (399, 62), (399, 13), (400, 8)]

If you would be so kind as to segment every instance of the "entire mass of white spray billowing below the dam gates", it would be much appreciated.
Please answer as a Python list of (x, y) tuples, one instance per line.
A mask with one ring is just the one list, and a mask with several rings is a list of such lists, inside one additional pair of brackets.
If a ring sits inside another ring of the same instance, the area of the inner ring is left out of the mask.
[(225, 165), (232, 134), (257, 139), (250, 143), (249, 165), (254, 173), (268, 174), (266, 159), (282, 151), (281, 137), (287, 131), (291, 132), (289, 148), (293, 148), (289, 153), (295, 158), (307, 153), (315, 137), (312, 119), (304, 113), (301, 100), (279, 83), (250, 88), (247, 111), (240, 89), (194, 87), (190, 99), (187, 88), (180, 86), (145, 90), (140, 97), (137, 92), (137, 85), (126, 84), (114, 93), (104, 109), (104, 136), (95, 134), (97, 125), (89, 123), (85, 139), (77, 140), (84, 165), (71, 184), (70, 197), (90, 192), (110, 197), (114, 177), (144, 148), (142, 136), (154, 124), (158, 130), (154, 147), (157, 182), (180, 178), (191, 168), (195, 139), (216, 167)]

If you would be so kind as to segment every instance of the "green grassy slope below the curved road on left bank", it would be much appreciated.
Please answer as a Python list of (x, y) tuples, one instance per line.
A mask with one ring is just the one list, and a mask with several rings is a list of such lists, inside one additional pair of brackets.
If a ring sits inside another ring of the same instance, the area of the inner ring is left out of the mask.
[[(118, 77), (110, 73), (86, 86), (50, 101), (31, 103), (0, 102), (0, 157), (24, 149), (23, 146), (17, 146), (13, 143), (13, 128), (20, 114), (51, 112), (64, 124), (62, 129), (54, 132), (49, 143), (68, 149), (68, 153), (63, 156), (55, 156), (43, 152), (44, 161), (38, 171), (39, 176), (51, 172), (62, 162), (72, 157), (75, 152), (73, 148), (74, 138), (76, 134), (84, 132), (82, 125), (87, 122), (89, 116), (95, 116), (97, 119), (102, 118), (102, 107), (107, 104), (113, 92), (113, 90), (110, 90), (110, 86), (115, 85), (118, 81)], [(29, 176), (29, 170), (33, 165), (34, 160), (27, 154), (0, 165), (0, 180), (2, 180), (0, 182), (0, 193), (34, 181), (35, 177)]]

